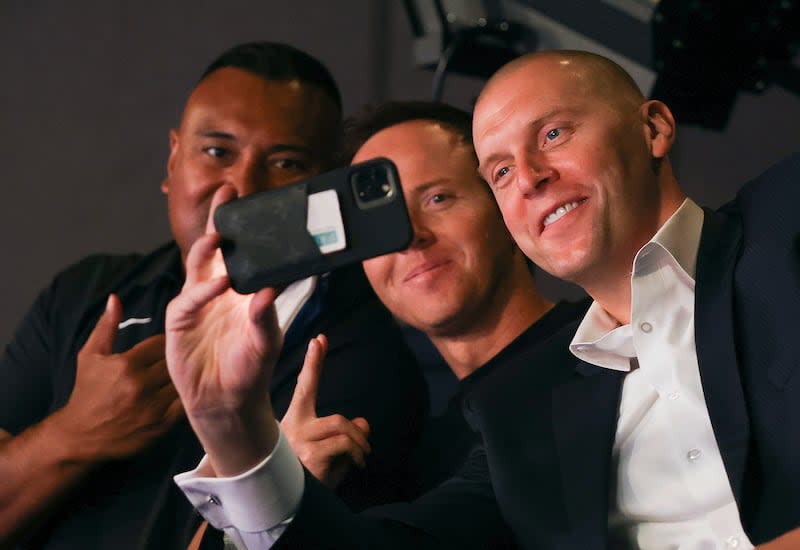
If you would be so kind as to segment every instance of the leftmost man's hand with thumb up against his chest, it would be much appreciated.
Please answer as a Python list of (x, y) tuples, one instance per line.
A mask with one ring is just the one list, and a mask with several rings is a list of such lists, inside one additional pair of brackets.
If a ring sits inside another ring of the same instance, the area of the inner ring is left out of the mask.
[(75, 388), (54, 417), (62, 441), (90, 461), (128, 457), (155, 441), (182, 414), (169, 379), (164, 335), (112, 353), (122, 317), (111, 295), (77, 357)]

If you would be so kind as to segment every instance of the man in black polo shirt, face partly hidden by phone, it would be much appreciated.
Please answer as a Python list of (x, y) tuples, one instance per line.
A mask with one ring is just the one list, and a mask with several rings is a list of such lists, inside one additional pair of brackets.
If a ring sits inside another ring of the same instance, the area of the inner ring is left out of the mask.
[[(245, 44), (209, 66), (170, 133), (162, 190), (175, 242), (59, 274), (0, 361), (0, 546), (186, 546), (199, 518), (172, 476), (203, 452), (166, 370), (166, 304), (215, 191), (242, 196), (325, 170), (340, 119), (330, 74), (294, 48)], [(371, 428), (367, 466), (342, 493), (357, 506), (392, 498), (397, 488), (379, 481), (402, 463), (425, 392), (390, 316), (359, 267), (290, 285), (277, 310), (285, 349), (273, 406), (286, 410), (307, 340), (325, 332), (318, 412)]]

